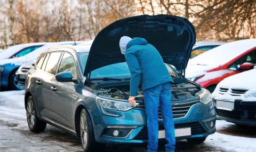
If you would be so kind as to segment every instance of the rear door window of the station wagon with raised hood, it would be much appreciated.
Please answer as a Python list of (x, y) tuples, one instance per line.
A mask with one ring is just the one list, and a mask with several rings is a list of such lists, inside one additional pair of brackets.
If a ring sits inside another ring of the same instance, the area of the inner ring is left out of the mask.
[(60, 59), (61, 52), (53, 52), (50, 54), (50, 57), (46, 63), (45, 71), (47, 73), (55, 75), (58, 62)]

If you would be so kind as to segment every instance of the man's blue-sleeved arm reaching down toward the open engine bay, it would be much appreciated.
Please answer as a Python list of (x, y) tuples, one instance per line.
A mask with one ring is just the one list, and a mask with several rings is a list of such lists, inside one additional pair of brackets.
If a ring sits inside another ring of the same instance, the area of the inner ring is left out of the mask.
[(136, 57), (136, 52), (127, 50), (125, 52), (125, 60), (131, 73), (130, 96), (136, 96), (139, 90), (141, 77), (141, 69), (139, 61)]

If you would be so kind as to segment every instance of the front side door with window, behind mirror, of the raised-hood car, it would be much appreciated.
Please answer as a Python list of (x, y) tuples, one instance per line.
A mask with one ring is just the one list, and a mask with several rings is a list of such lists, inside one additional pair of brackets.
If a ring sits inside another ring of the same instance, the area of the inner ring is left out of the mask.
[[(64, 71), (71, 73), (73, 78), (78, 78), (75, 60), (68, 52), (63, 54), (57, 73)], [(77, 99), (76, 86), (76, 83), (58, 82), (55, 78), (52, 81), (52, 87), (55, 89), (51, 93), (54, 119), (69, 129), (73, 129), (73, 102)]]

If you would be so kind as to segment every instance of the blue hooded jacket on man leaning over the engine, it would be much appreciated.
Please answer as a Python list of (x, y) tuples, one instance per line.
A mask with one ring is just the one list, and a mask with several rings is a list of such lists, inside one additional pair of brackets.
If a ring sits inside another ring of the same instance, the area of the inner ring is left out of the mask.
[(125, 59), (131, 72), (130, 95), (136, 96), (140, 82), (142, 90), (173, 82), (160, 53), (144, 38), (133, 38), (127, 45)]

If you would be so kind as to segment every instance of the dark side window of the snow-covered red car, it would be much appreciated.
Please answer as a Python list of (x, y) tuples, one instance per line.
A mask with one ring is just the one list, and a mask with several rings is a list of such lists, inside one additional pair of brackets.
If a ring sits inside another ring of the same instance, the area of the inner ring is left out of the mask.
[(253, 63), (256, 66), (256, 50), (244, 55), (243, 57), (233, 62), (229, 66), (229, 69), (236, 70), (238, 65), (242, 65), (245, 62)]

